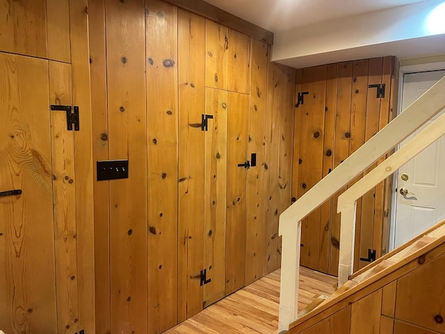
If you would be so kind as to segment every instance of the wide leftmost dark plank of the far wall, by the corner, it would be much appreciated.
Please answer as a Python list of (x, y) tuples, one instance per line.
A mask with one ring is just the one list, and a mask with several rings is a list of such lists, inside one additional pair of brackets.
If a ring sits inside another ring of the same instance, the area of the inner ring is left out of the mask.
[[(326, 65), (309, 67), (302, 72), (304, 104), (298, 106), (300, 112), (300, 159), (298, 168), (298, 198), (303, 196), (318, 181), (323, 173), (323, 130), (325, 127)], [(317, 208), (302, 220), (301, 264), (318, 269), (320, 252), (320, 217)]]

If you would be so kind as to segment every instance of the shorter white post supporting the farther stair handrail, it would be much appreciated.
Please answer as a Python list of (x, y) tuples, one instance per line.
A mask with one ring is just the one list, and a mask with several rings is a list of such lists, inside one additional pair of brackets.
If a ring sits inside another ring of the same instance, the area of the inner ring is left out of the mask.
[(345, 284), (354, 269), (355, 209), (357, 201), (341, 210), (339, 285)]

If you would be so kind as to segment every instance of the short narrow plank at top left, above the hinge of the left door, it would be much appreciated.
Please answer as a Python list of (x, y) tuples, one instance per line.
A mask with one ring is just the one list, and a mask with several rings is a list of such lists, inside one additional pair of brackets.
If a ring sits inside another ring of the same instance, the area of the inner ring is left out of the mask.
[[(70, 45), (70, 1), (47, 1), (48, 58), (71, 62)], [(97, 2), (97, 1), (92, 1)], [(90, 3), (91, 4), (91, 3)], [(95, 6), (95, 4), (92, 4)]]

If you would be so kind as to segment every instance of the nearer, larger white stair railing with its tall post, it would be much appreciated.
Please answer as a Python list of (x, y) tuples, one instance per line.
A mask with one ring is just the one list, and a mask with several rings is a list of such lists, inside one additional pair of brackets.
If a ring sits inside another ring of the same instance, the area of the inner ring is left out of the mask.
[[(362, 147), (348, 157), (340, 166), (332, 170), (305, 195), (280, 215), (279, 234), (282, 236), (282, 264), (280, 285), (280, 316), (278, 331), (286, 331), (297, 318), (298, 279), (300, 270), (301, 221), (326, 200), (334, 196), (350, 181), (380, 157), (419, 129), (432, 116), (445, 107), (445, 77), (426, 91), (418, 100), (407, 107), (380, 132), (375, 134)], [(346, 207), (344, 217), (355, 216), (354, 206)], [(343, 216), (343, 215), (342, 215)], [(350, 220), (350, 219), (349, 219)], [(346, 231), (346, 230), (345, 230)], [(346, 233), (346, 232), (345, 232)], [(353, 233), (352, 230), (348, 231)], [(352, 234), (351, 234), (352, 235)], [(341, 241), (340, 241), (341, 243)], [(342, 245), (340, 244), (340, 249)], [(351, 253), (352, 254), (352, 253)], [(348, 268), (343, 268), (342, 273)], [(342, 278), (344, 279), (344, 278)]]

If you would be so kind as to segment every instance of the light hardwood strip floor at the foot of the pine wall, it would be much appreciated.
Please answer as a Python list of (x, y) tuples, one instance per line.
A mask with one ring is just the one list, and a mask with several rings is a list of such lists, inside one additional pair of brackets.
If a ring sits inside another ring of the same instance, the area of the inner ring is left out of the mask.
[[(311, 269), (300, 269), (302, 310), (321, 294), (334, 292), (337, 278)], [(270, 334), (278, 328), (280, 269), (214, 303), (164, 334)]]

